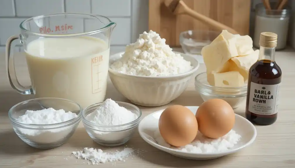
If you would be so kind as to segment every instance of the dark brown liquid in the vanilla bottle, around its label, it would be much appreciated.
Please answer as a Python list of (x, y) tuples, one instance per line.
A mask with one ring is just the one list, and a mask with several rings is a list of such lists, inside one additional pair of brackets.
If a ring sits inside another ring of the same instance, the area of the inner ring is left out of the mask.
[(249, 69), (248, 79), (248, 92), (246, 102), (246, 118), (258, 125), (270, 125), (276, 122), (278, 113), (273, 115), (261, 115), (254, 114), (248, 110), (249, 108), (249, 96), (250, 96), (250, 84), (251, 82), (264, 85), (274, 85), (281, 83), (282, 71), (275, 61), (262, 59), (257, 61)]

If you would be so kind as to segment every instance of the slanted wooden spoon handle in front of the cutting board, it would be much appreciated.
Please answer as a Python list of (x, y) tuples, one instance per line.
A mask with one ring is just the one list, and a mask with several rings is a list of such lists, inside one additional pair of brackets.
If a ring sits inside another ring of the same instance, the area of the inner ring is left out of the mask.
[(211, 19), (211, 18), (209, 18), (207, 16), (204, 16), (202, 14), (199, 14), (198, 12), (196, 12), (196, 11), (194, 11), (192, 9), (189, 9), (188, 8), (185, 11), (186, 11), (185, 13), (187, 15), (189, 15), (189, 16), (191, 16), (191, 17), (193, 17), (193, 18), (195, 18), (195, 19), (197, 19), (197, 20), (199, 20), (199, 21), (201, 21), (201, 22), (203, 22), (203, 23), (211, 26), (214, 29), (227, 30), (228, 32), (230, 32), (232, 34), (238, 34), (237, 31), (235, 31), (234, 29), (230, 28), (229, 26), (226, 26), (226, 25), (224, 25), (224, 24), (222, 24), (222, 23), (220, 23), (218, 21), (215, 21), (215, 20), (213, 20), (213, 19)]

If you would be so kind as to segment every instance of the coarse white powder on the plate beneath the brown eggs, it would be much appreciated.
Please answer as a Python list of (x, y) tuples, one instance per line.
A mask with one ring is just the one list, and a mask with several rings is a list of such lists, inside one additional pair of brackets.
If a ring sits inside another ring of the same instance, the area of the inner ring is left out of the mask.
[(234, 130), (230, 130), (230, 132), (224, 135), (223, 137), (220, 137), (217, 139), (211, 139), (211, 138), (205, 137), (200, 132), (198, 132), (195, 140), (183, 147), (173, 147), (167, 142), (165, 142), (159, 130), (154, 132), (154, 138), (155, 138), (155, 141), (163, 147), (177, 149), (183, 152), (216, 153), (216, 152), (224, 152), (234, 147), (234, 145), (240, 141), (241, 136), (237, 134)]

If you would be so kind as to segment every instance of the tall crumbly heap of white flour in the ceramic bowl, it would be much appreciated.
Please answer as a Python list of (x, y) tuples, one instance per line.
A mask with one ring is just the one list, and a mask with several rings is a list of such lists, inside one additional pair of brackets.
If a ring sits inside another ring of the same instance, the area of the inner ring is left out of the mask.
[(154, 31), (143, 32), (135, 43), (126, 46), (122, 58), (110, 68), (138, 76), (171, 76), (190, 71), (191, 63), (175, 54), (165, 41)]

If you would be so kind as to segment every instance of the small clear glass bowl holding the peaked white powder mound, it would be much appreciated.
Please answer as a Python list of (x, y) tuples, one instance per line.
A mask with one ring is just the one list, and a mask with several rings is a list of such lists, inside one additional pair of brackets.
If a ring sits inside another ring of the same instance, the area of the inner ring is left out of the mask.
[(133, 104), (125, 102), (116, 102), (119, 106), (130, 110), (137, 115), (134, 121), (122, 125), (98, 125), (86, 119), (86, 116), (94, 112), (97, 107), (102, 103), (93, 104), (83, 110), (82, 121), (89, 136), (98, 144), (114, 147), (125, 144), (135, 132), (138, 124), (140, 123), (141, 110)]

